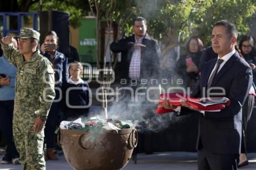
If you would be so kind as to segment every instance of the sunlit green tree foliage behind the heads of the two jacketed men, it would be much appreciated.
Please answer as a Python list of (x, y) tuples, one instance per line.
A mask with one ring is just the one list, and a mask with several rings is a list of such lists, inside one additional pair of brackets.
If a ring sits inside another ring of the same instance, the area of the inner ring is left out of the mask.
[(161, 39), (168, 34), (176, 41), (199, 35), (209, 45), (211, 30), (218, 20), (237, 25), (239, 35), (249, 31), (248, 22), (255, 13), (255, 0), (137, 0), (136, 15), (148, 20), (148, 33)]

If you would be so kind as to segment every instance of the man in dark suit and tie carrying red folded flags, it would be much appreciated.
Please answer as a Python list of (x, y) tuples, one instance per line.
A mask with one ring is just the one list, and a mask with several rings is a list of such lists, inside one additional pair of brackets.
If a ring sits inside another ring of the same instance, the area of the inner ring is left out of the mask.
[[(231, 103), (221, 111), (200, 111), (197, 140), (199, 170), (233, 170), (237, 169), (239, 162), (242, 105), (252, 84), (252, 71), (235, 50), (237, 34), (236, 26), (228, 20), (214, 24), (211, 41), (218, 57), (205, 63), (201, 71), (201, 94), (197, 97), (227, 97)], [(163, 103), (165, 108), (175, 109), (177, 116), (198, 111), (184, 101), (182, 105), (184, 107), (177, 108), (167, 101)]]

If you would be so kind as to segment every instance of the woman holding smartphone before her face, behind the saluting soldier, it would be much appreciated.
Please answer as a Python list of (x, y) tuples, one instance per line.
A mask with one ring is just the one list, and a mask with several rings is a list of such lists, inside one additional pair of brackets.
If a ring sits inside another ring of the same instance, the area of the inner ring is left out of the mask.
[[(55, 99), (58, 100), (61, 93), (61, 86), (66, 82), (69, 74), (67, 72), (67, 58), (58, 50), (58, 36), (56, 32), (50, 31), (45, 34), (44, 43), (40, 47), (42, 55), (49, 59), (55, 70)], [(53, 101), (48, 118), (45, 124), (45, 159), (57, 160), (53, 153), (55, 147), (55, 129), (57, 126), (57, 116), (60, 111), (59, 102)]]

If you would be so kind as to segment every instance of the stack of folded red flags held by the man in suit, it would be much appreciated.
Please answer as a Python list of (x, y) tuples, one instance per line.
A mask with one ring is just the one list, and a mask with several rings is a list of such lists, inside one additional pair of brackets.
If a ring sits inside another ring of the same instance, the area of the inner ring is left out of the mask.
[(195, 109), (201, 111), (217, 111), (224, 109), (225, 106), (230, 105), (230, 101), (226, 97), (213, 97), (213, 98), (192, 98), (187, 94), (183, 93), (164, 93), (160, 94), (160, 100), (158, 101), (159, 105), (156, 109), (157, 114), (164, 114), (169, 112), (174, 112), (171, 109), (165, 109), (162, 106), (162, 102), (167, 99), (170, 104), (175, 106), (182, 106), (180, 99), (185, 100), (187, 104), (192, 106)]

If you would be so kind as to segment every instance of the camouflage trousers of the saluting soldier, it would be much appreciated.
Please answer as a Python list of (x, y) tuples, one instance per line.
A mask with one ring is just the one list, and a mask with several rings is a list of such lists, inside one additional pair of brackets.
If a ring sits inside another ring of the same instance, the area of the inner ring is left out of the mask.
[(44, 129), (36, 134), (33, 125), (34, 120), (31, 118), (13, 118), (13, 135), (15, 146), (20, 153), (19, 162), (23, 165), (23, 170), (45, 170)]

